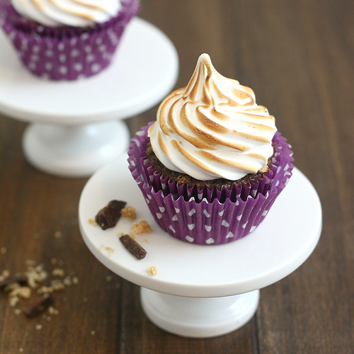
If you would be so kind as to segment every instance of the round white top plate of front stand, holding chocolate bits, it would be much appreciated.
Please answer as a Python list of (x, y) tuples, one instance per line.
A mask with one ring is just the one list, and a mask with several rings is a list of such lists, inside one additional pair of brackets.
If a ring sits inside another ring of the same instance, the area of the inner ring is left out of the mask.
[[(86, 183), (79, 201), (79, 226), (96, 258), (122, 278), (158, 292), (185, 297), (236, 295), (273, 284), (292, 273), (314, 250), (321, 234), (321, 202), (298, 169), (267, 217), (251, 234), (223, 245), (189, 244), (162, 231), (127, 168), (127, 156), (98, 170)], [(132, 222), (122, 217), (103, 231), (89, 223), (110, 200), (125, 200), (137, 217), (152, 226), (136, 234), (147, 251), (138, 261), (121, 244)], [(149, 266), (157, 275), (150, 275)]]

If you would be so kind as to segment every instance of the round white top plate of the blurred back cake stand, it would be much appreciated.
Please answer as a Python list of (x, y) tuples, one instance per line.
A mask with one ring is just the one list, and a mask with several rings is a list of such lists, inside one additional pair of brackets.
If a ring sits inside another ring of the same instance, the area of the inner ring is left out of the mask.
[(0, 112), (19, 120), (77, 125), (129, 118), (159, 103), (177, 76), (176, 48), (141, 18), (127, 25), (107, 69), (76, 81), (30, 74), (0, 30)]

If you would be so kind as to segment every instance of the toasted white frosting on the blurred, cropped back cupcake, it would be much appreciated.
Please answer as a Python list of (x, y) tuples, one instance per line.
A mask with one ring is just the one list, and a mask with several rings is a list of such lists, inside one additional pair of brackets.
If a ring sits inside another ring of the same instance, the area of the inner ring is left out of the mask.
[(49, 27), (87, 27), (116, 16), (120, 0), (11, 0), (24, 18)]

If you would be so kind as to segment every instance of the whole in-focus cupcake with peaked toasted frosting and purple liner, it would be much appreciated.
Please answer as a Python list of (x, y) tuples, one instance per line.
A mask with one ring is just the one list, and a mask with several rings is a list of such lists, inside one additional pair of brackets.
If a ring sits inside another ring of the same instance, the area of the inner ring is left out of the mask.
[(171, 236), (225, 244), (253, 232), (292, 176), (292, 151), (251, 89), (201, 55), (187, 86), (137, 132), (129, 169)]

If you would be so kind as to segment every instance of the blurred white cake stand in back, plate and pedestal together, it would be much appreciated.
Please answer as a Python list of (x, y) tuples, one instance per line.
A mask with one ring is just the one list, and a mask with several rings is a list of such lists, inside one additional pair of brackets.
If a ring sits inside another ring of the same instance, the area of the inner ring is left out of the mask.
[(127, 149), (121, 121), (159, 103), (178, 77), (175, 47), (158, 28), (133, 18), (108, 69), (78, 81), (30, 74), (0, 30), (0, 112), (32, 122), (25, 157), (59, 176), (89, 176)]

